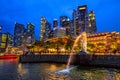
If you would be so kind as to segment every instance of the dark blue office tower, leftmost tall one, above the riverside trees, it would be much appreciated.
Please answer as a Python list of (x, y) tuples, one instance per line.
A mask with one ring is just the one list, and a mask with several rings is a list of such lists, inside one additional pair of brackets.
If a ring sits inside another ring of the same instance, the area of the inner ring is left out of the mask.
[(14, 28), (14, 46), (21, 46), (23, 42), (23, 37), (24, 37), (24, 25), (15, 23), (15, 28)]

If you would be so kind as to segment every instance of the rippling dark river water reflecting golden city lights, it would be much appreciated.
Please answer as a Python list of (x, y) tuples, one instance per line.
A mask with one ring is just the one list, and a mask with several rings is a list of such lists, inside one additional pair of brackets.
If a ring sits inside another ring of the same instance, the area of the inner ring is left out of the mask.
[(0, 80), (120, 80), (120, 70), (112, 68), (76, 67), (70, 74), (55, 74), (65, 67), (66, 64), (0, 60)]

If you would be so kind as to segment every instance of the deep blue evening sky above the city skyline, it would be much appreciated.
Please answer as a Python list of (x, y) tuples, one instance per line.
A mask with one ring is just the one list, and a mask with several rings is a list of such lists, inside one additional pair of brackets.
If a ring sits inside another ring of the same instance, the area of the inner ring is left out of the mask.
[(35, 35), (39, 39), (40, 17), (53, 23), (61, 15), (72, 19), (73, 9), (87, 4), (94, 10), (99, 32), (120, 31), (120, 0), (0, 0), (0, 25), (3, 32), (14, 32), (14, 23), (35, 25)]

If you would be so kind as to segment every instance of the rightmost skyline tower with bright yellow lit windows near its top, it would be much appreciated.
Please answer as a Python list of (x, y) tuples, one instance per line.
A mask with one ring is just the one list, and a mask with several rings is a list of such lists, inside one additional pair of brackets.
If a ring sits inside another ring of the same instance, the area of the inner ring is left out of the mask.
[(90, 11), (88, 18), (88, 33), (96, 33), (96, 32), (97, 32), (97, 27), (96, 27), (95, 14), (94, 11)]

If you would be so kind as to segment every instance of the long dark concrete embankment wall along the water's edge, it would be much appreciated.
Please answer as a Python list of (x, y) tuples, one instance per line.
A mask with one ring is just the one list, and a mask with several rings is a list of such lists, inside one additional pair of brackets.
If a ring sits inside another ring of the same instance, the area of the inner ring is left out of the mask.
[[(69, 55), (22, 55), (21, 63), (52, 62), (67, 63)], [(120, 68), (120, 56), (117, 55), (73, 55), (71, 64), (80, 66), (96, 66)]]

